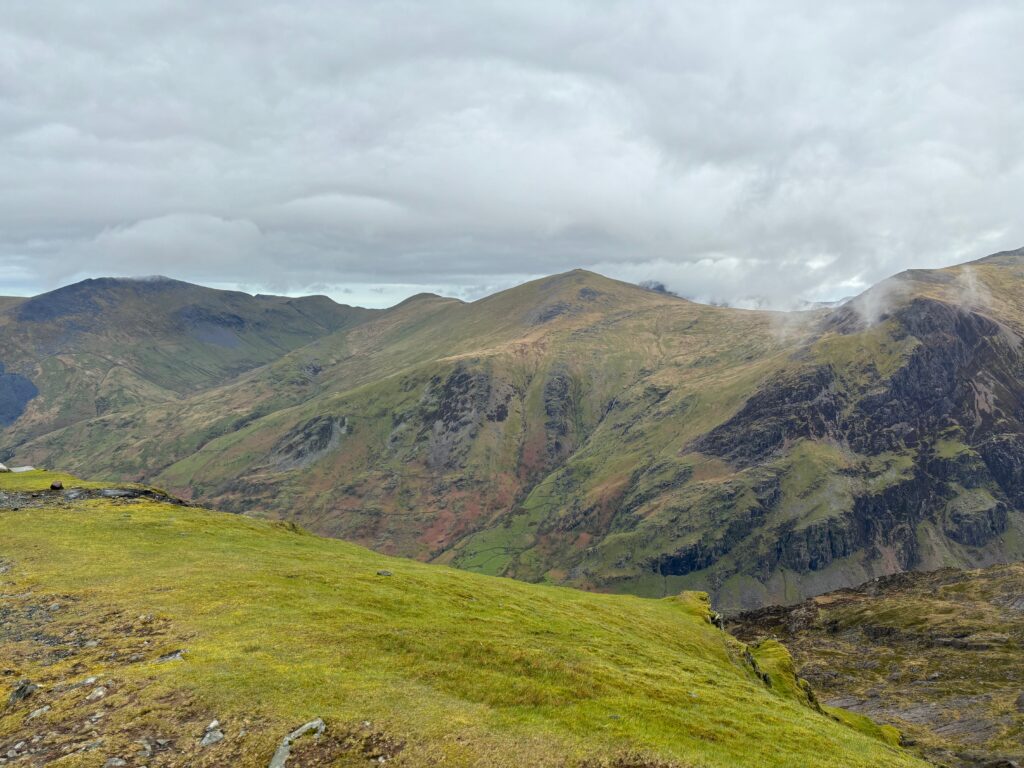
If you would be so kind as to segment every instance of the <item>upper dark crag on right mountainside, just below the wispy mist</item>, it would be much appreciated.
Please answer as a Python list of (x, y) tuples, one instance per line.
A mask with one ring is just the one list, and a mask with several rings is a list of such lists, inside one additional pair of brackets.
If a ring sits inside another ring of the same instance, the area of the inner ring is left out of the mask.
[[(839, 439), (873, 456), (915, 446), (953, 426), (972, 443), (996, 430), (1024, 429), (1024, 365), (1010, 331), (932, 299), (910, 302), (893, 319), (898, 334), (920, 343), (880, 391), (848, 391), (827, 364), (776, 374), (692, 449), (743, 467), (802, 437)], [(1015, 476), (1005, 457), (994, 461)]]

